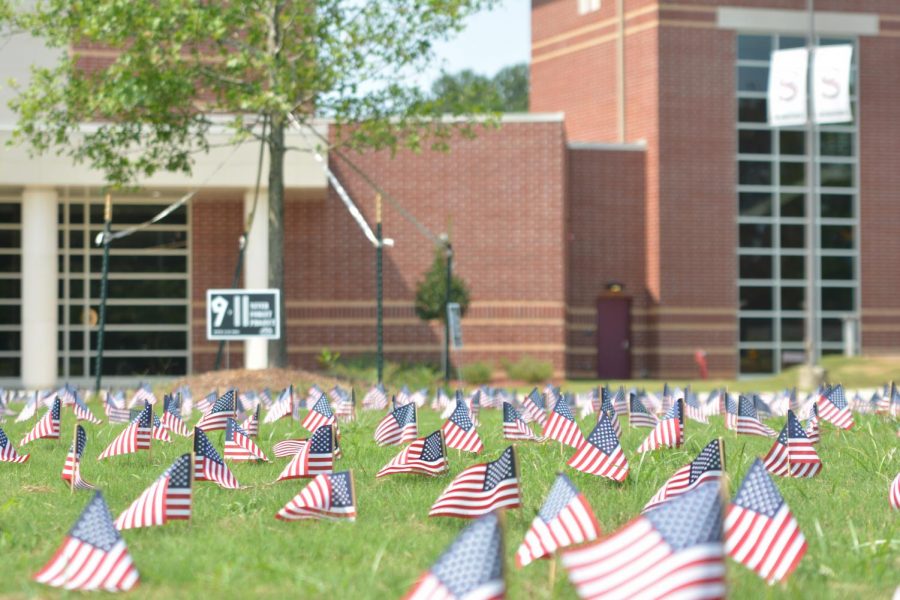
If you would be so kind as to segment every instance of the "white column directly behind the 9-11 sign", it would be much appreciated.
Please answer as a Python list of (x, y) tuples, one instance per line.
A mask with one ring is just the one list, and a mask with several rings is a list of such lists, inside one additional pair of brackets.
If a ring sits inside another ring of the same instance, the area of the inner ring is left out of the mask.
[[(255, 190), (244, 192), (244, 215), (253, 212)], [(256, 198), (256, 213), (247, 235), (244, 250), (244, 287), (269, 287), (269, 193), (260, 189)], [(269, 366), (269, 340), (244, 341), (244, 367), (265, 369)]]

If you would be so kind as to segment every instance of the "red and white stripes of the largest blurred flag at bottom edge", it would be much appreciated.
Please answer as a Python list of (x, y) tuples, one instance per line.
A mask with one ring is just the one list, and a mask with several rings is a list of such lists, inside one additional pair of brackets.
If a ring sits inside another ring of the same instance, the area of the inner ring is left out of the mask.
[(641, 518), (600, 544), (567, 551), (563, 564), (581, 598), (725, 597), (721, 544), (673, 554)]

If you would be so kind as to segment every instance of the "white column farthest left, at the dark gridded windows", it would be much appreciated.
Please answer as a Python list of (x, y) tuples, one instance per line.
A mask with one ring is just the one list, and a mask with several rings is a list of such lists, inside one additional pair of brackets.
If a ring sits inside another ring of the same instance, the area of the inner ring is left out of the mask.
[(49, 187), (22, 193), (22, 385), (56, 385), (57, 194)]

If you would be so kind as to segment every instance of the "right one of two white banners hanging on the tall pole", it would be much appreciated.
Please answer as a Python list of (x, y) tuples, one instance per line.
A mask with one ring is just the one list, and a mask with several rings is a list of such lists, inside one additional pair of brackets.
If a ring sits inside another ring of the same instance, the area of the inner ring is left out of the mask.
[(813, 63), (813, 107), (816, 123), (846, 123), (850, 110), (850, 64), (853, 46), (816, 48)]

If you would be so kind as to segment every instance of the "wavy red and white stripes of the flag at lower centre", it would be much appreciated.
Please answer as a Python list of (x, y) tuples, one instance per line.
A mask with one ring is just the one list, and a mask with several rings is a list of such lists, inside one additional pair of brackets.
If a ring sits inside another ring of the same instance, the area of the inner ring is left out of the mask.
[(428, 513), (430, 517), (478, 517), (499, 508), (520, 506), (519, 481), (511, 478), (484, 490), (487, 465), (475, 465), (460, 473)]

